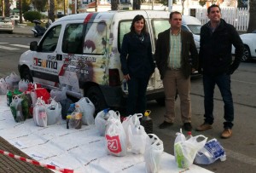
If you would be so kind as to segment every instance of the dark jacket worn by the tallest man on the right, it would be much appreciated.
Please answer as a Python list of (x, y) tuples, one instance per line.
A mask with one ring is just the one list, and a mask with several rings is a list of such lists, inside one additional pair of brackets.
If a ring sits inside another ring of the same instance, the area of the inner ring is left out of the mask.
[[(232, 44), (236, 48), (233, 63)], [(234, 26), (221, 19), (214, 32), (210, 28), (210, 21), (201, 27), (199, 60), (205, 74), (232, 74), (239, 66), (242, 54), (243, 43)]]

